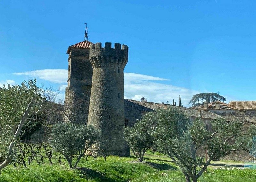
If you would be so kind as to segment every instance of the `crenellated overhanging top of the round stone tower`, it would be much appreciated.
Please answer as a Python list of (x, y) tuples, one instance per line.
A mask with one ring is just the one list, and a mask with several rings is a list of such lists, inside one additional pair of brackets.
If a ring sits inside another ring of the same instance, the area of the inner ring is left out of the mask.
[(111, 47), (111, 42), (106, 42), (105, 47), (101, 43), (90, 45), (90, 63), (96, 67), (118, 67), (124, 69), (128, 62), (128, 46), (115, 43), (115, 48)]

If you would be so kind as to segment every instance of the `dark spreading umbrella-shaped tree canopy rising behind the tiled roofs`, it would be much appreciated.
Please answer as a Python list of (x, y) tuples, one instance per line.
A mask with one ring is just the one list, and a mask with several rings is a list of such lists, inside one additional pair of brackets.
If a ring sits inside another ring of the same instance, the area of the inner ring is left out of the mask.
[(196, 94), (193, 95), (193, 97), (191, 98), (191, 100), (189, 101), (189, 104), (192, 104), (192, 106), (195, 106), (196, 104), (198, 104), (199, 102), (214, 102), (214, 101), (226, 101), (226, 98), (224, 98), (223, 96), (211, 92), (211, 93), (200, 93), (200, 94)]

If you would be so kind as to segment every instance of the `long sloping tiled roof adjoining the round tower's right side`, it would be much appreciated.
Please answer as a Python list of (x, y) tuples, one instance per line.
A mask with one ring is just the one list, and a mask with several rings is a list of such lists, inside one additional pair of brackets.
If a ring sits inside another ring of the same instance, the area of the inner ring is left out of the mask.
[(169, 105), (169, 104), (158, 104), (158, 103), (154, 103), (154, 102), (140, 102), (140, 101), (135, 101), (135, 100), (128, 100), (128, 99), (124, 99), (126, 102), (133, 102), (137, 105), (142, 106), (143, 108), (138, 107), (140, 110), (143, 110), (145, 108), (149, 108), (151, 110), (145, 110), (145, 111), (152, 111), (152, 110), (156, 110), (156, 109), (160, 109), (160, 108), (168, 108), (168, 107), (175, 107), (178, 110), (182, 110), (184, 112), (187, 112), (191, 117), (196, 117), (196, 118), (206, 118), (206, 119), (217, 119), (218, 117), (221, 118), (221, 116), (212, 113), (208, 110), (201, 110), (201, 112), (198, 112), (197, 109), (191, 109), (191, 108), (186, 108), (186, 107), (180, 107), (180, 106), (173, 106), (173, 105)]

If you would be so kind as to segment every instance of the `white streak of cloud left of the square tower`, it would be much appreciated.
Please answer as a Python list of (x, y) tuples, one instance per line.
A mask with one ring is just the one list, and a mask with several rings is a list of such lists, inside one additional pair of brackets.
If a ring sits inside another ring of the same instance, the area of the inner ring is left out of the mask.
[(27, 72), (13, 73), (15, 75), (26, 75), (30, 77), (38, 77), (53, 83), (67, 83), (68, 70), (64, 69), (45, 69)]

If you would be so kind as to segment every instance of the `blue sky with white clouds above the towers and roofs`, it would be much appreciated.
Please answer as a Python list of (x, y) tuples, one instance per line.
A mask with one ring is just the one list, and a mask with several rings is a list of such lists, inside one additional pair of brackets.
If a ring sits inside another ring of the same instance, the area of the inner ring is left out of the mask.
[(63, 91), (66, 51), (84, 40), (87, 22), (89, 41), (129, 46), (126, 98), (166, 103), (180, 94), (188, 106), (196, 93), (220, 92), (227, 102), (256, 100), (255, 7), (245, 0), (4, 0), (0, 85), (36, 77)]

